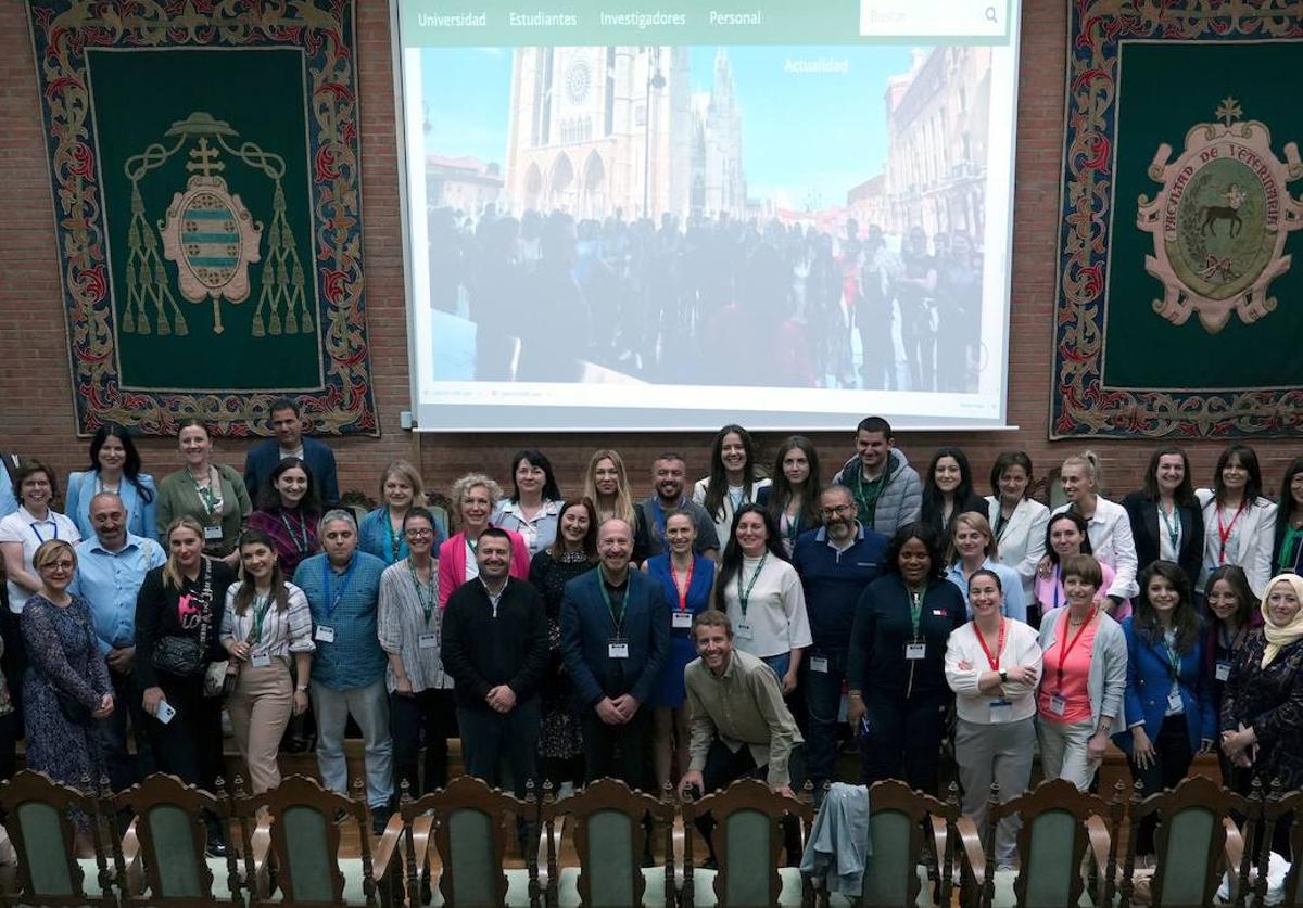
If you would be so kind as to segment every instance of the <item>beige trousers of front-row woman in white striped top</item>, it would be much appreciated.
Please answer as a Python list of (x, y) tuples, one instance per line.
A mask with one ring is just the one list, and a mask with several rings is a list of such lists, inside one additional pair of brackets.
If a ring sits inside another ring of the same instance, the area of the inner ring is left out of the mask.
[(255, 669), (245, 663), (240, 669), (240, 682), (227, 700), (227, 712), (231, 713), (231, 730), (240, 756), (249, 766), (249, 784), (254, 794), (280, 784), (276, 754), (293, 708), (288, 660), (276, 657), (267, 666)]

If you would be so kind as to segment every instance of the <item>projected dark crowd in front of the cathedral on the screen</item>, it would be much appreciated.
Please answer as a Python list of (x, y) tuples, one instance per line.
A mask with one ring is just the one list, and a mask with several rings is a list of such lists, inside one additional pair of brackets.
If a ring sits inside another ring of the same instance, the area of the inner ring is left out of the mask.
[(481, 381), (579, 381), (597, 363), (674, 384), (976, 388), (982, 256), (962, 229), (489, 206), (437, 208), (429, 230), (431, 306), (476, 323)]

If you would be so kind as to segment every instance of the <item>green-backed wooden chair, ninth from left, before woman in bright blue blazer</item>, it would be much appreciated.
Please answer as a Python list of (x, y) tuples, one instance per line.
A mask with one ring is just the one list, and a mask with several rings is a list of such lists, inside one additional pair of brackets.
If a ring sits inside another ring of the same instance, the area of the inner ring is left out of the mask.
[[(1136, 900), (1138, 886), (1148, 888), (1148, 901), (1165, 908), (1196, 908), (1213, 901), (1224, 872), (1238, 886), (1244, 852), (1233, 812), (1248, 813), (1247, 797), (1222, 788), (1204, 775), (1191, 775), (1175, 788), (1140, 799), (1139, 786), (1131, 801), (1131, 831), (1122, 872), (1121, 904)], [(1154, 834), (1153, 872), (1135, 872), (1140, 822), (1158, 820)], [(1145, 886), (1148, 883), (1148, 886)]]

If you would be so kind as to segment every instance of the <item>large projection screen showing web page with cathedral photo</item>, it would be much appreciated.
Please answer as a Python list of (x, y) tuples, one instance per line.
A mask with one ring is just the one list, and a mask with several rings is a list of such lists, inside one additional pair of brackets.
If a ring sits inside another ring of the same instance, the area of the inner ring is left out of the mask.
[(396, 0), (418, 431), (1005, 425), (1019, 0)]

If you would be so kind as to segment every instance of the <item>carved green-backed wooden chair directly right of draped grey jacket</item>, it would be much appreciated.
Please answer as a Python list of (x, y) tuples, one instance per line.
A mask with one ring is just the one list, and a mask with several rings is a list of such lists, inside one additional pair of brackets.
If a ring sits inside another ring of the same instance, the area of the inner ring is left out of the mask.
[[(938, 870), (937, 904), (949, 905), (955, 860), (951, 827), (959, 818), (954, 794), (947, 803), (915, 791), (904, 782), (886, 779), (869, 787), (869, 810), (870, 856), (859, 904), (864, 908), (917, 904), (928, 878), (924, 852), (930, 844)], [(822, 903), (827, 904), (826, 894)]]

